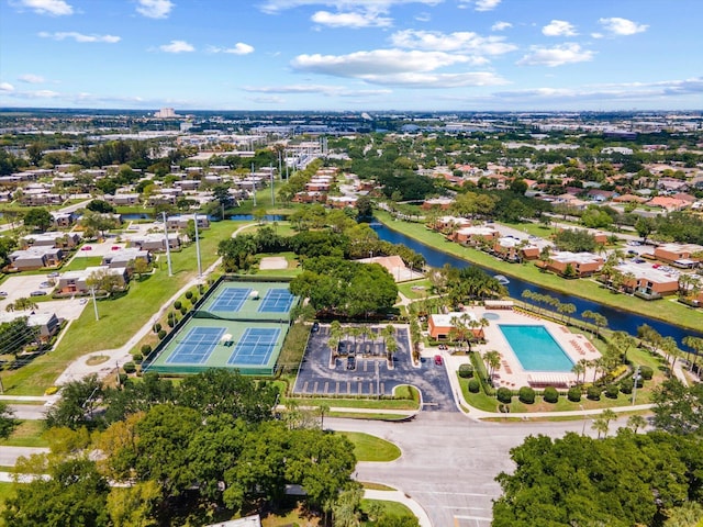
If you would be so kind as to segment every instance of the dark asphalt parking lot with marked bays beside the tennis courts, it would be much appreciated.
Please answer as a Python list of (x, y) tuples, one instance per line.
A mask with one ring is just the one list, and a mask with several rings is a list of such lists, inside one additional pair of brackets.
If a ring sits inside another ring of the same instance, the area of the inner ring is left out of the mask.
[(417, 367), (412, 365), (406, 327), (397, 326), (398, 351), (393, 355), (392, 368), (388, 366), (380, 339), (360, 338), (356, 343), (349, 338), (343, 348), (353, 355), (341, 355), (331, 365), (328, 332), (328, 326), (321, 325), (320, 330), (311, 334), (293, 393), (372, 397), (392, 395), (395, 386), (411, 384), (422, 393), (423, 410), (456, 411), (445, 365), (435, 363), (433, 358), (423, 358)]

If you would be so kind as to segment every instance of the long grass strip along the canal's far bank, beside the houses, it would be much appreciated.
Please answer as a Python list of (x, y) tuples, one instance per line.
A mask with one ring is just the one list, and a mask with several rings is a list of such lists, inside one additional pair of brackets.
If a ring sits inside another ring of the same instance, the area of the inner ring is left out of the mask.
[(649, 302), (628, 294), (613, 294), (609, 290), (601, 288), (594, 280), (565, 280), (556, 274), (542, 272), (532, 262), (523, 265), (509, 264), (481, 250), (447, 242), (442, 234), (428, 231), (422, 223), (393, 221), (391, 215), (384, 211), (376, 211), (375, 214), (389, 228), (411, 236), (444, 253), (499, 271), (502, 274), (521, 278), (531, 283), (544, 285), (565, 294), (589, 299), (615, 309), (639, 313), (666, 322), (676, 321), (677, 325), (683, 327), (696, 330), (703, 327), (703, 313), (683, 304), (661, 300)]

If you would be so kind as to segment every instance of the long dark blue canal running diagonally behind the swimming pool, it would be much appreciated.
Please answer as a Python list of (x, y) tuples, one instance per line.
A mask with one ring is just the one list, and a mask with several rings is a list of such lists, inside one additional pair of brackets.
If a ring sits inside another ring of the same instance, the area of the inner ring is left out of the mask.
[[(388, 228), (386, 225), (373, 222), (371, 223), (371, 227), (373, 231), (378, 233), (380, 239), (386, 242), (390, 242), (392, 244), (403, 244), (411, 249), (422, 254), (425, 257), (425, 261), (428, 266), (440, 268), (446, 264), (449, 264), (456, 268), (464, 268), (468, 266), (472, 266), (475, 264), (470, 264), (461, 258), (457, 258), (456, 256), (448, 255), (443, 253), (434, 247), (422, 244), (416, 239), (410, 238), (404, 234), (398, 233)], [(481, 267), (481, 266), (478, 266)], [(491, 269), (487, 269), (481, 267), (481, 269), (486, 270), (490, 274), (495, 274), (495, 271)], [(682, 346), (681, 340), (687, 336), (695, 336), (703, 338), (703, 334), (693, 332), (691, 329), (681, 328), (679, 326), (674, 326), (673, 324), (668, 324), (662, 321), (658, 321), (656, 318), (650, 318), (648, 316), (638, 315), (635, 313), (629, 313), (626, 311), (620, 311), (615, 307), (610, 307), (607, 305), (602, 305), (596, 302), (581, 299), (578, 296), (571, 296), (568, 294), (560, 293), (558, 291), (553, 291), (547, 288), (543, 288), (540, 285), (535, 285), (534, 283), (526, 282), (518, 278), (507, 277), (510, 283), (506, 284), (506, 289), (509, 294), (513, 299), (522, 299), (523, 291), (529, 290), (535, 291), (540, 294), (549, 294), (559, 300), (559, 302), (571, 303), (576, 305), (577, 312), (574, 315), (580, 315), (584, 311), (594, 311), (607, 318), (607, 327), (614, 330), (627, 332), (631, 335), (637, 335), (637, 328), (643, 324), (647, 324), (654, 327), (660, 335), (665, 337), (673, 337), (679, 346)], [(644, 302), (644, 301), (643, 301)], [(683, 349), (688, 349), (683, 347)]]

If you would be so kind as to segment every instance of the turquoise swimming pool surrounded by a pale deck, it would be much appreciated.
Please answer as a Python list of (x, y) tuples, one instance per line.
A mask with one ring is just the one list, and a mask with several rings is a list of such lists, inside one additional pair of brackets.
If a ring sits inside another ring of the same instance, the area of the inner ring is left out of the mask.
[(499, 324), (525, 371), (570, 372), (573, 362), (545, 326)]

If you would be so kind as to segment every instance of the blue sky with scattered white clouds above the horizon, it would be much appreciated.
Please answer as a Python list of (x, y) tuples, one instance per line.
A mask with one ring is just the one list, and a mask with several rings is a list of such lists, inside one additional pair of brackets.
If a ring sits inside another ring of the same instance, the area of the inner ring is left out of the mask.
[(0, 105), (703, 109), (701, 0), (0, 0)]

